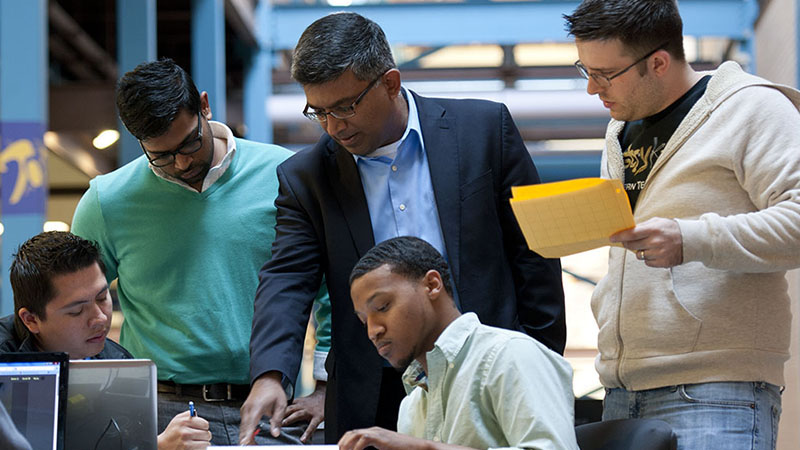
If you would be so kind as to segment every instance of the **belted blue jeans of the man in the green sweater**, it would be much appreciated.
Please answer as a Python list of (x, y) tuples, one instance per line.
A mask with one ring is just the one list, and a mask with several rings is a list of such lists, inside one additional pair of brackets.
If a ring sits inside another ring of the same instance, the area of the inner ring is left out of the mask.
[[(179, 397), (175, 394), (158, 393), (158, 432), (167, 428), (170, 420), (188, 409), (188, 401), (194, 401), (197, 415), (208, 421), (211, 445), (239, 445), (239, 409), (242, 402), (204, 402), (198, 398)], [(261, 420), (264, 430), (269, 430), (269, 421)], [(258, 445), (300, 445), (300, 436), (308, 422), (281, 427), (281, 435), (273, 438), (268, 431), (256, 436)]]

